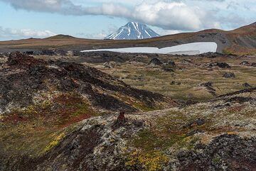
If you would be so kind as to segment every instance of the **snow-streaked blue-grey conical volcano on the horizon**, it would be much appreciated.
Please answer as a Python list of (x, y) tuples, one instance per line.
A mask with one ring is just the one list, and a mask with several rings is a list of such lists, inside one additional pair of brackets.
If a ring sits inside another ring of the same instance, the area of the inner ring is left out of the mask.
[(115, 33), (108, 35), (105, 39), (135, 40), (155, 37), (159, 37), (159, 34), (151, 30), (151, 28), (145, 24), (129, 22), (125, 26), (119, 28)]

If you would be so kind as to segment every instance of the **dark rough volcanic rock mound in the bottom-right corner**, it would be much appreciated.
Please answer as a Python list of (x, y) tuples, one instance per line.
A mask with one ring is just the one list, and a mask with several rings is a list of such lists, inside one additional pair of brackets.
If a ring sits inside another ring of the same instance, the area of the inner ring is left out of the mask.
[(255, 138), (223, 135), (208, 145), (197, 145), (195, 151), (178, 153), (178, 170), (255, 170)]

